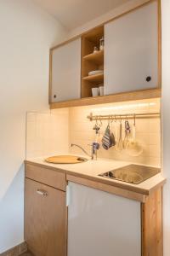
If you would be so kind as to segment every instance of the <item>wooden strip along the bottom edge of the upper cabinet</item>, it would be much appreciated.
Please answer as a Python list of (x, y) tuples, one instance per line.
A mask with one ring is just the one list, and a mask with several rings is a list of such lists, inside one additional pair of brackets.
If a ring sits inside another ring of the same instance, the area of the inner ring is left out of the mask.
[(50, 108), (71, 108), (114, 102), (130, 102), (151, 98), (161, 98), (161, 88), (150, 90), (135, 90), (125, 93), (112, 94), (108, 96), (88, 97), (67, 102), (50, 103)]

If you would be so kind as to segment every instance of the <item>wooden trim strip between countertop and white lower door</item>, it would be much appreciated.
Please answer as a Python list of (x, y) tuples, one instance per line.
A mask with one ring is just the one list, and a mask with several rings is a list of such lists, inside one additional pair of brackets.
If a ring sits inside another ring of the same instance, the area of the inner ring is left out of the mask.
[(104, 183), (99, 183), (99, 182), (94, 182), (91, 180), (88, 180), (86, 178), (82, 178), (82, 177), (76, 177), (76, 176), (72, 176), (67, 174), (66, 175), (66, 179), (67, 181), (71, 181), (74, 183), (78, 183), (78, 184), (82, 184), (84, 186), (93, 188), (93, 189), (99, 189), (114, 195), (120, 195), (123, 197), (126, 197), (128, 199), (132, 199), (135, 201), (140, 201), (140, 202), (145, 202), (146, 200), (146, 195), (142, 195), (133, 191), (129, 191), (129, 190), (125, 190), (125, 189), (120, 189), (120, 188), (116, 188), (114, 186), (110, 186), (110, 185), (106, 185)]

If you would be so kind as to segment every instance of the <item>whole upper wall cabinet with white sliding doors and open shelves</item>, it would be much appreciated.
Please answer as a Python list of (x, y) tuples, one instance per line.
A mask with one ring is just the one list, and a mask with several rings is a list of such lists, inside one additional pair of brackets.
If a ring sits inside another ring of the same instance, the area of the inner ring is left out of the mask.
[(134, 4), (51, 49), (50, 107), (161, 96), (160, 10), (160, 0)]

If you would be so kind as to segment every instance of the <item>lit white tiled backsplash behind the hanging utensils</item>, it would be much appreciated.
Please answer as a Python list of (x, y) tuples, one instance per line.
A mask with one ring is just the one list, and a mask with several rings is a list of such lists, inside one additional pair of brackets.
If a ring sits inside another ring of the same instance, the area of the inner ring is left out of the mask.
[[(151, 99), (136, 102), (112, 103), (100, 106), (81, 107), (70, 109), (70, 143), (80, 144), (83, 148), (90, 152), (88, 144), (95, 140), (95, 132), (93, 126), (95, 121), (90, 122), (87, 116), (90, 112), (94, 114), (121, 114), (121, 113), (152, 113), (160, 112), (160, 100)], [(133, 119), (129, 119), (131, 127), (133, 126)], [(102, 121), (100, 128), (101, 137), (105, 132), (108, 121)], [(114, 122), (113, 122), (114, 124)], [(124, 124), (124, 122), (122, 122)], [(115, 131), (113, 125), (113, 131)], [(124, 127), (122, 131), (122, 138), (124, 138)], [(133, 157), (127, 154), (126, 150), (118, 152), (116, 148), (105, 150), (100, 145), (98, 152), (99, 157), (127, 160), (140, 164), (161, 166), (161, 128), (160, 118), (143, 118), (136, 119), (136, 138), (142, 145), (144, 151), (138, 157)], [(71, 148), (71, 153), (82, 154), (77, 148)]]

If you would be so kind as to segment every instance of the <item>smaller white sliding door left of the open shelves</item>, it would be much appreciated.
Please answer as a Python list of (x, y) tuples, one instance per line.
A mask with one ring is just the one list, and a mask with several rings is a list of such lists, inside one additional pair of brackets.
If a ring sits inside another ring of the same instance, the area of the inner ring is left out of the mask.
[(51, 83), (51, 102), (80, 98), (81, 38), (54, 49), (52, 56)]

